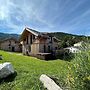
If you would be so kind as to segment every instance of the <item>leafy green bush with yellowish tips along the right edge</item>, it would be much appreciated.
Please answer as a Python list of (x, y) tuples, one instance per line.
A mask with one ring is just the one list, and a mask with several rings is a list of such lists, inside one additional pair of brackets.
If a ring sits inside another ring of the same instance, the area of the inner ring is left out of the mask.
[(67, 84), (71, 90), (90, 90), (90, 80), (85, 79), (90, 75), (90, 53), (88, 49), (75, 54), (72, 65), (68, 66)]

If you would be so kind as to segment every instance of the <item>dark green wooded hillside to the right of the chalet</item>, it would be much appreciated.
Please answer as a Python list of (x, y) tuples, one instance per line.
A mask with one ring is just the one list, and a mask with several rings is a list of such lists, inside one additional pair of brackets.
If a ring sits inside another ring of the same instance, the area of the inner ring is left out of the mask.
[(60, 47), (68, 47), (72, 46), (73, 44), (80, 42), (80, 41), (90, 41), (90, 36), (84, 36), (84, 35), (73, 35), (63, 32), (54, 32), (50, 33), (52, 36), (57, 37), (60, 42)]

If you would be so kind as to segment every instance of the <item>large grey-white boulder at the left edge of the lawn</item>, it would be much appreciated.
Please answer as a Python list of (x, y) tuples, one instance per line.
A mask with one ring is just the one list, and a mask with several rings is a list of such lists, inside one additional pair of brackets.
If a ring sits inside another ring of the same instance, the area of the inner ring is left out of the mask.
[(14, 73), (14, 69), (11, 63), (6, 62), (0, 64), (0, 79), (6, 78), (7, 76)]

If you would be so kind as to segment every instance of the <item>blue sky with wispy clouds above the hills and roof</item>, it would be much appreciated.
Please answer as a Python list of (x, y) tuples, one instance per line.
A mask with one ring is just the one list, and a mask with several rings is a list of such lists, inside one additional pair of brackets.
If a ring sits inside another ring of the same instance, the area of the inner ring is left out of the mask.
[(0, 0), (0, 32), (90, 35), (90, 0)]

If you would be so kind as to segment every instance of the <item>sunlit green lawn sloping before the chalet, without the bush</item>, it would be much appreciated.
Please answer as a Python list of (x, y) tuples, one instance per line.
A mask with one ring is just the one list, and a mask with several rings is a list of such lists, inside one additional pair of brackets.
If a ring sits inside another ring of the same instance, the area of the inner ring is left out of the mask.
[(0, 54), (4, 57), (0, 63), (11, 62), (17, 72), (14, 80), (1, 82), (0, 90), (44, 90), (39, 81), (41, 74), (58, 77), (59, 83), (66, 79), (69, 62), (62, 60), (44, 61), (4, 51), (0, 51)]

